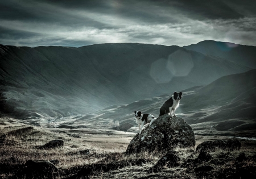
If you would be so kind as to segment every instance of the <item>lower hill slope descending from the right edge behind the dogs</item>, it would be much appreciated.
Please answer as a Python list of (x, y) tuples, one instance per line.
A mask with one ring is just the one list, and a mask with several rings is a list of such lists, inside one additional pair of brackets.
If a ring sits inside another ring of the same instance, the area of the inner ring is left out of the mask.
[[(207, 86), (195, 86), (183, 91), (183, 98), (176, 110), (187, 123), (193, 124), (195, 130), (201, 128), (208, 130), (216, 126), (217, 131), (237, 132), (244, 131), (247, 135), (255, 132), (256, 110), (256, 70), (246, 73), (232, 74), (213, 81)], [(76, 124), (86, 123), (88, 126), (97, 123), (97, 127), (111, 127), (115, 123), (106, 121), (119, 121), (120, 130), (129, 130), (131, 126), (137, 127), (133, 111), (140, 110), (144, 114), (159, 115), (159, 109), (171, 94), (160, 95), (135, 101), (129, 105), (110, 106), (107, 109), (88, 114), (76, 119)], [(209, 125), (205, 122), (209, 122)], [(108, 124), (108, 125), (107, 125)], [(195, 124), (195, 125), (194, 125)], [(207, 128), (209, 127), (209, 128)], [(250, 132), (248, 132), (250, 131)]]

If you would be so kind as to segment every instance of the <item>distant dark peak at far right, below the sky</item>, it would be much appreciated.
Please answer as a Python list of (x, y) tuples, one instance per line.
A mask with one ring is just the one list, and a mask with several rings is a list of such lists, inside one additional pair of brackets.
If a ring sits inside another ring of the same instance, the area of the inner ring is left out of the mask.
[(218, 56), (238, 64), (249, 66), (253, 69), (256, 68), (256, 47), (254, 46), (204, 40), (197, 44), (184, 46), (184, 48), (207, 55)]

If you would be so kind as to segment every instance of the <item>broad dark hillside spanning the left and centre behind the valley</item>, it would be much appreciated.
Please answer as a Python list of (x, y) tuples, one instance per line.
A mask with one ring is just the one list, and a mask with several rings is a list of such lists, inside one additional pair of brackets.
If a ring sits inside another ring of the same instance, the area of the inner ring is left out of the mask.
[(177, 46), (0, 46), (1, 110), (23, 119), (88, 113), (206, 85), (250, 68)]

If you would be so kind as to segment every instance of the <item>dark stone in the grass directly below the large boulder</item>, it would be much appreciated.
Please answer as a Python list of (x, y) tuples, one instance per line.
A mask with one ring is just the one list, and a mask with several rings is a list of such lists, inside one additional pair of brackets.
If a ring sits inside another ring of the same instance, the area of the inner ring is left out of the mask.
[(174, 167), (179, 166), (180, 158), (174, 154), (174, 152), (169, 152), (163, 156), (158, 163), (156, 163), (152, 168), (148, 170), (148, 173), (159, 172), (162, 170), (163, 166)]

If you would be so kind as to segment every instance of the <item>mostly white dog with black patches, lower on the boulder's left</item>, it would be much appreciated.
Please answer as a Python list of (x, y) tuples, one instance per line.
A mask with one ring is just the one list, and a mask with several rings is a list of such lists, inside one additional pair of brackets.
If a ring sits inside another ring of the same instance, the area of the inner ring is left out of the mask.
[(151, 114), (142, 114), (141, 111), (134, 111), (136, 123), (139, 125), (139, 135), (141, 135), (144, 124), (150, 125), (156, 120)]

